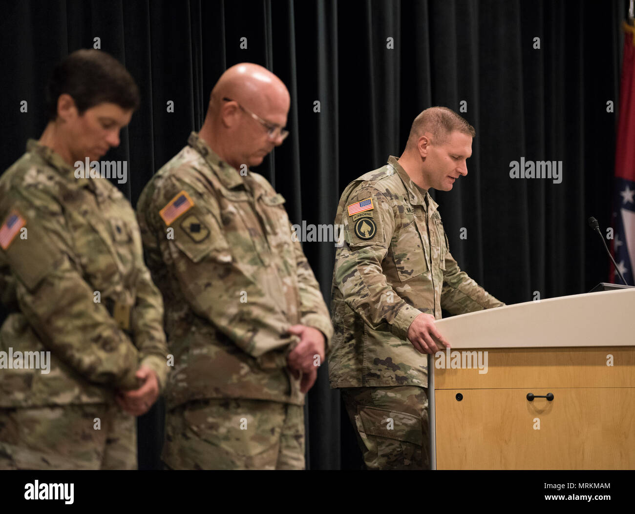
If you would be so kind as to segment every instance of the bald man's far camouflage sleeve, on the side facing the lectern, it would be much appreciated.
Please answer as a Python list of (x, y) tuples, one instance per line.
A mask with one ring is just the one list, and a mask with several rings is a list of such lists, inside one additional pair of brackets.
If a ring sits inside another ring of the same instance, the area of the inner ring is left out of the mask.
[(300, 289), (300, 324), (314, 327), (324, 334), (324, 350), (328, 353), (333, 337), (333, 325), (328, 313), (318, 280), (309, 266), (299, 241), (293, 245), (298, 268), (298, 288)]

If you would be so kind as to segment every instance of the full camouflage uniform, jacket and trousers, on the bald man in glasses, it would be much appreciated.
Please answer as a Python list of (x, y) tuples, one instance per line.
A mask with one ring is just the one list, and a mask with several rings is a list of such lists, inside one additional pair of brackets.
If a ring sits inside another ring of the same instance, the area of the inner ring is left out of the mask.
[(264, 177), (243, 176), (220, 161), (196, 133), (188, 143), (137, 205), (175, 359), (166, 390), (164, 462), (170, 468), (302, 468), (304, 394), (286, 368), (297, 341), (286, 330), (315, 327), (328, 345), (328, 310), (300, 243), (291, 238), (284, 198)]

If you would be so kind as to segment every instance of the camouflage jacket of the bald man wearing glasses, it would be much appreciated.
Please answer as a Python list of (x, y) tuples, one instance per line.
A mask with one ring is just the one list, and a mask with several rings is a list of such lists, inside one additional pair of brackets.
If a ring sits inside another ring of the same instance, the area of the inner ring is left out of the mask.
[(241, 175), (192, 133), (137, 204), (145, 256), (166, 306), (174, 369), (168, 408), (245, 398), (302, 405), (286, 369), (294, 324), (333, 334), (291, 224), (264, 177)]

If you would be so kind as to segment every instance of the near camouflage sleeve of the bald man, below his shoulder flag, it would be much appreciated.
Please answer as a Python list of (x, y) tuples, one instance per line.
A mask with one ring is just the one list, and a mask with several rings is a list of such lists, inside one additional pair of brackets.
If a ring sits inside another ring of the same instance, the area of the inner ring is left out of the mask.
[[(183, 193), (192, 206), (166, 225), (159, 211)], [(163, 239), (163, 263), (169, 263), (180, 294), (196, 315), (252, 357), (286, 348), (297, 340), (286, 331), (288, 321), (263, 280), (262, 264), (253, 259), (251, 235), (231, 234), (229, 244), (213, 195), (178, 178), (166, 178), (156, 187), (143, 216), (152, 235)], [(278, 357), (272, 357), (272, 362), (266, 359), (269, 366), (281, 366)]]

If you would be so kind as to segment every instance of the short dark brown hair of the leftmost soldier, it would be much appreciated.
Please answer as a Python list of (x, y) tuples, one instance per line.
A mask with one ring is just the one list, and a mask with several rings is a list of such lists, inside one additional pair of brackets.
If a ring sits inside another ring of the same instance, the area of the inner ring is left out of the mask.
[(79, 115), (104, 102), (124, 110), (139, 105), (139, 90), (128, 70), (112, 55), (95, 49), (76, 50), (53, 70), (46, 87), (50, 121), (57, 118), (57, 100), (63, 93), (72, 96)]

